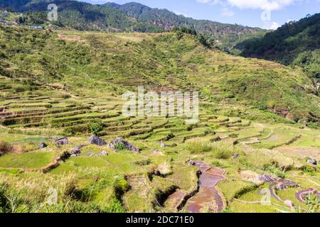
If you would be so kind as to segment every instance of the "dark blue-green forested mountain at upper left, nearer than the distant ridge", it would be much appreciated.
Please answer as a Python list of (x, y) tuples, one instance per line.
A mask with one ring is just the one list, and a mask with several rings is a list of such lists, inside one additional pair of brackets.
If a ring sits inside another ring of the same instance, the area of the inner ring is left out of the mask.
[[(138, 23), (121, 11), (110, 7), (87, 4), (79, 1), (23, 0), (21, 4), (1, 0), (0, 6), (23, 12), (33, 23), (45, 23), (48, 4), (58, 6), (58, 24), (80, 31), (138, 31), (161, 32), (163, 28), (150, 23)], [(28, 20), (27, 20), (28, 21)], [(30, 21), (30, 20), (29, 20)]]

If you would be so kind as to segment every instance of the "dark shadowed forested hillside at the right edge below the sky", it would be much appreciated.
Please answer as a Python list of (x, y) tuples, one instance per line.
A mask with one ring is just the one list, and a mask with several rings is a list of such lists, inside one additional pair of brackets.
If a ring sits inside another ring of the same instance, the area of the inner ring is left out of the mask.
[(235, 48), (240, 49), (246, 57), (298, 65), (319, 83), (320, 13), (286, 23), (263, 38), (245, 40)]

